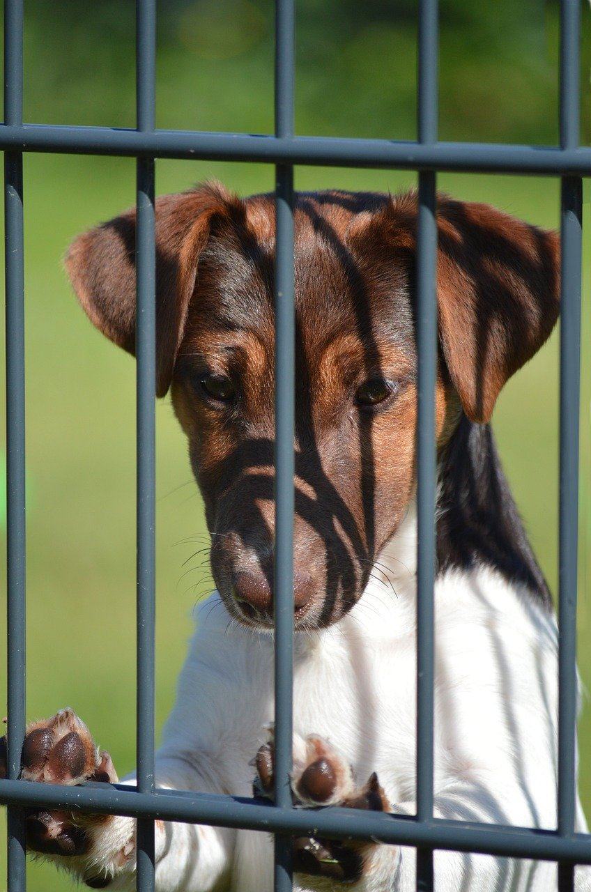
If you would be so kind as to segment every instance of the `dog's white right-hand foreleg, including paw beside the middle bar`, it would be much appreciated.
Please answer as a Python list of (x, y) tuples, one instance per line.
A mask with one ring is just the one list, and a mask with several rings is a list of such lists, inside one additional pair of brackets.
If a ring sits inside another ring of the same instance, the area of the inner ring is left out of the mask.
[[(254, 760), (254, 793), (272, 797), (273, 741)], [(434, 815), (455, 821), (534, 825), (525, 820), (523, 791), (508, 778), (491, 789), (494, 779), (455, 780), (437, 792)], [(350, 765), (334, 747), (311, 735), (295, 739), (292, 789), (295, 805), (339, 805), (396, 814), (414, 814), (414, 803), (390, 805), (377, 775), (358, 785)], [(445, 892), (556, 892), (553, 863), (490, 855), (438, 851), (434, 855), (437, 888)], [(294, 840), (297, 888), (325, 892), (343, 884), (354, 892), (414, 892), (416, 853), (412, 847), (378, 843), (335, 842), (320, 837)], [(578, 868), (577, 892), (589, 889), (589, 869)]]

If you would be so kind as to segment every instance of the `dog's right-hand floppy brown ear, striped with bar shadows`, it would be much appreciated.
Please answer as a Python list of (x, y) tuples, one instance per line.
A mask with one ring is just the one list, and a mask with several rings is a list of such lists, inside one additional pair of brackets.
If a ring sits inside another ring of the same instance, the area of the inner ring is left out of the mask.
[[(416, 255), (416, 194), (374, 216), (395, 251)], [(487, 204), (437, 199), (437, 307), (445, 368), (466, 415), (486, 422), (501, 388), (550, 335), (560, 241)], [(383, 243), (382, 243), (383, 244)]]

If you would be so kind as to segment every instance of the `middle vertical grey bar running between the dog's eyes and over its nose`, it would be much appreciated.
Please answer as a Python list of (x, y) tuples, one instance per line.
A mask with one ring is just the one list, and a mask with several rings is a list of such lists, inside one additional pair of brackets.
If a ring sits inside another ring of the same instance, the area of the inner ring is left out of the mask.
[[(294, 0), (275, 6), (275, 134), (294, 135)], [(291, 806), (294, 654), (294, 171), (275, 169), (275, 802)], [(292, 888), (292, 841), (275, 836), (275, 892)]]

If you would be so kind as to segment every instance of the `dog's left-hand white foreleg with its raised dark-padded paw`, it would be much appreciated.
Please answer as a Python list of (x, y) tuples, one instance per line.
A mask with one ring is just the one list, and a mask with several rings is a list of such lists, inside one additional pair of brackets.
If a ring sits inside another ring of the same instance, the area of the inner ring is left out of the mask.
[[(1, 762), (0, 775), (5, 773)], [(156, 785), (220, 793), (213, 772), (207, 773), (209, 780), (184, 761), (167, 758), (159, 764), (157, 760)], [(98, 750), (86, 724), (71, 709), (29, 725), (21, 778), (68, 786), (85, 780), (118, 782), (111, 756)], [(29, 851), (59, 864), (87, 886), (136, 888), (133, 818), (36, 808), (29, 810), (26, 833)], [(229, 874), (234, 838), (234, 830), (156, 821), (156, 888), (210, 892)]]

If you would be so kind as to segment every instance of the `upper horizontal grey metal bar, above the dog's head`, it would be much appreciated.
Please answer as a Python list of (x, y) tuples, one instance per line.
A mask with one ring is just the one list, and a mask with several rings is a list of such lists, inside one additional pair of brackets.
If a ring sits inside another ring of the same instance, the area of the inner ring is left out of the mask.
[(0, 149), (103, 155), (152, 155), (208, 161), (262, 161), (331, 167), (497, 171), (547, 176), (591, 174), (591, 147), (495, 143), (420, 144), (321, 136), (250, 136), (183, 130), (0, 124)]

